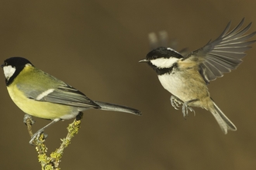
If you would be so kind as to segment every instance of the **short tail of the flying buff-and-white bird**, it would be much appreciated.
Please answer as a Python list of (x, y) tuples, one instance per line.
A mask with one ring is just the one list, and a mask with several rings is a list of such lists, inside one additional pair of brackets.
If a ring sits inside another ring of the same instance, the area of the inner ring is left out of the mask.
[(223, 114), (222, 110), (214, 103), (213, 101), (214, 110), (211, 111), (213, 116), (215, 117), (216, 121), (220, 125), (221, 130), (224, 134), (227, 134), (227, 131), (237, 131), (237, 127), (230, 121), (225, 114)]

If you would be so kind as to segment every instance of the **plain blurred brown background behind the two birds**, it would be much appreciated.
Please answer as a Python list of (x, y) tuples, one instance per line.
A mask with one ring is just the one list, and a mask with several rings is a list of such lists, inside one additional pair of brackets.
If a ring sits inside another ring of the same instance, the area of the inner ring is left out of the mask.
[[(196, 108), (186, 120), (171, 107), (154, 70), (138, 63), (148, 33), (166, 30), (178, 49), (204, 46), (245, 17), (254, 1), (1, 1), (0, 60), (23, 56), (92, 100), (140, 109), (142, 117), (87, 110), (61, 169), (254, 169), (256, 166), (256, 44), (238, 70), (209, 84), (216, 104), (237, 125), (224, 135), (213, 116)], [(256, 39), (256, 37), (254, 37)], [(40, 169), (35, 148), (0, 79), (1, 169)], [(72, 120), (71, 120), (72, 121)], [(48, 153), (67, 134), (63, 121), (48, 128)], [(36, 118), (33, 130), (49, 121)]]

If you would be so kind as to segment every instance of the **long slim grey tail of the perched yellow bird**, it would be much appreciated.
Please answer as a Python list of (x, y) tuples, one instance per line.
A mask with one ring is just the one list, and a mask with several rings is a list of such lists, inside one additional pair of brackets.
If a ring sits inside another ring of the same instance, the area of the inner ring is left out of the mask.
[(120, 106), (117, 104), (108, 104), (101, 101), (94, 101), (94, 103), (98, 104), (101, 107), (101, 110), (120, 111), (120, 112), (129, 113), (129, 114), (141, 115), (140, 110), (133, 109), (130, 107)]

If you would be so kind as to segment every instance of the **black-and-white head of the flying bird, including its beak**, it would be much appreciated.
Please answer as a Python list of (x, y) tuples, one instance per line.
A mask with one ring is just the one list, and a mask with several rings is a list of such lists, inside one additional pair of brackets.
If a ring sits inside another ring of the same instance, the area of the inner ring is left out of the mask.
[(182, 58), (183, 56), (174, 49), (161, 46), (147, 53), (146, 59), (139, 62), (148, 63), (158, 75), (161, 75), (170, 73), (178, 59)]

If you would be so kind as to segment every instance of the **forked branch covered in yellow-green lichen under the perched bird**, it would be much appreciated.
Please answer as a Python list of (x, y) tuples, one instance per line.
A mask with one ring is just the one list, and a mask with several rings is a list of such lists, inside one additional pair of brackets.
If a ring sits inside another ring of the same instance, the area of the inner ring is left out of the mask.
[[(81, 117), (82, 113), (78, 114), (76, 119), (71, 123), (68, 124), (67, 127), (67, 136), (66, 138), (61, 139), (61, 146), (56, 149), (56, 151), (50, 153), (50, 156), (47, 156), (47, 146), (45, 145), (45, 137), (44, 134), (40, 135), (40, 138), (36, 138), (33, 141), (33, 145), (36, 146), (36, 151), (38, 154), (38, 161), (43, 170), (59, 170), (61, 158), (64, 154), (64, 148), (67, 148), (68, 145), (71, 144), (71, 139), (74, 137), (75, 134), (78, 134), (80, 124), (81, 124)], [(33, 136), (32, 131), (32, 117), (28, 117), (26, 119), (27, 129), (29, 131), (29, 135)]]

